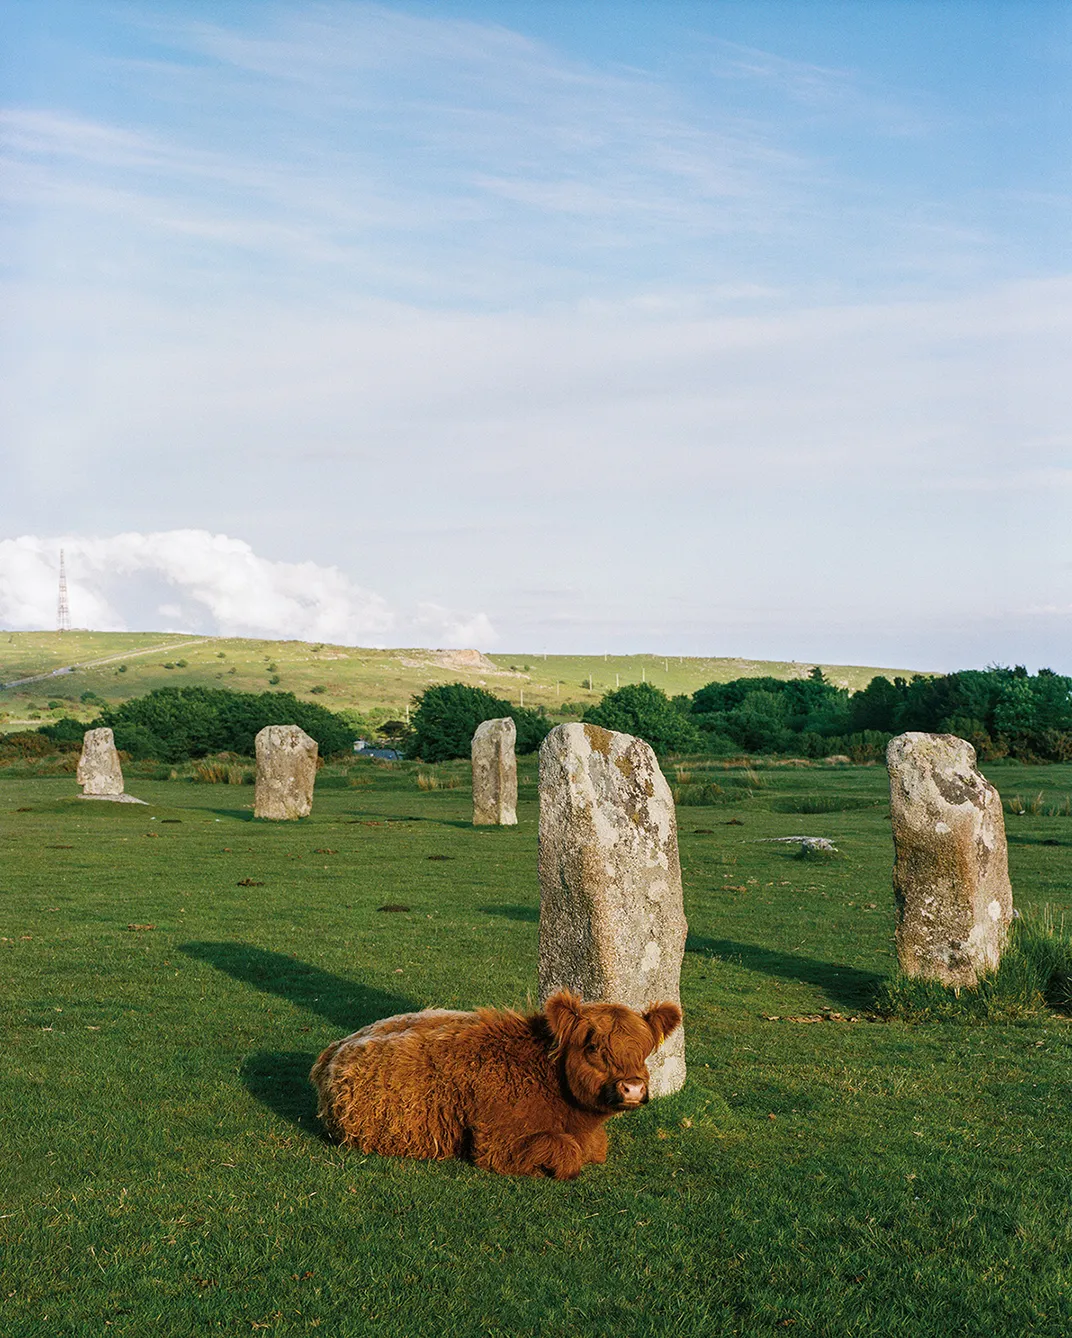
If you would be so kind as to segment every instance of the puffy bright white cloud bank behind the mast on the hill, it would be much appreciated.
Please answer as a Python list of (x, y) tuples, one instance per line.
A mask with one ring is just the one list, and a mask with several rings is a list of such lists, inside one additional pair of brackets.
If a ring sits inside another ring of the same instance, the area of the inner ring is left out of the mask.
[(0, 539), (0, 628), (56, 625), (60, 550), (72, 622), (98, 632), (159, 628), (367, 646), (497, 640), (482, 613), (459, 615), (435, 603), (400, 613), (337, 567), (272, 562), (241, 539), (205, 530)]

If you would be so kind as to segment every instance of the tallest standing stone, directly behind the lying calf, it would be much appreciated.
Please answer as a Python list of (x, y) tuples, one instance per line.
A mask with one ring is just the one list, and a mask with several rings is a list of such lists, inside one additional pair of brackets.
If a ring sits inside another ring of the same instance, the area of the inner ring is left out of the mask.
[[(644, 1009), (681, 999), (685, 913), (673, 797), (652, 749), (558, 725), (539, 749), (539, 997)], [(684, 1029), (648, 1061), (652, 1096), (685, 1081)]]

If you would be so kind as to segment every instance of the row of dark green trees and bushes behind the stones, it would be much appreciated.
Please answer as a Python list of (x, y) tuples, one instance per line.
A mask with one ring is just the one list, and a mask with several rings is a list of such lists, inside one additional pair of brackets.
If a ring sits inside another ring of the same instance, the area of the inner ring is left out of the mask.
[[(483, 720), (510, 716), (518, 752), (534, 752), (554, 721), (543, 708), (515, 706), (482, 688), (438, 684), (414, 698), (404, 753), (423, 761), (467, 757)], [(709, 682), (692, 696), (668, 697), (649, 682), (608, 692), (584, 712), (585, 721), (646, 740), (657, 753), (882, 757), (906, 729), (960, 735), (982, 761), (1072, 760), (1072, 678), (1040, 669), (964, 669), (913, 678), (874, 677), (861, 692), (815, 668), (806, 678), (735, 678)], [(300, 725), (323, 756), (351, 752), (353, 724), (289, 692), (224, 688), (158, 688), (106, 706), (88, 725), (70, 717), (40, 733), (58, 744), (82, 741), (86, 729), (108, 725), (131, 757), (183, 761), (213, 752), (249, 756), (265, 725)]]

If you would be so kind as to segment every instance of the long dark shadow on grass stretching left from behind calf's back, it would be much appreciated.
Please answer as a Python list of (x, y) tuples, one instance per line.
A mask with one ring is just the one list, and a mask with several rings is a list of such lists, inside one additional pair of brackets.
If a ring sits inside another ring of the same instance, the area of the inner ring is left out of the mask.
[(179, 950), (244, 985), (319, 1013), (343, 1033), (356, 1032), (379, 1017), (420, 1008), (401, 994), (348, 981), (285, 953), (270, 953), (249, 943), (181, 943)]

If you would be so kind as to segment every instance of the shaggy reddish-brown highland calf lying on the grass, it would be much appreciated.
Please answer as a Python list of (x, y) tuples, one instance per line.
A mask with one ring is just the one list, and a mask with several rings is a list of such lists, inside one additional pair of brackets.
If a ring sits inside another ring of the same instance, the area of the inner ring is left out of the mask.
[(648, 1100), (644, 1061), (680, 1021), (567, 990), (530, 1017), (427, 1009), (336, 1041), (309, 1076), (328, 1132), (363, 1152), (571, 1180), (606, 1160), (606, 1120)]

